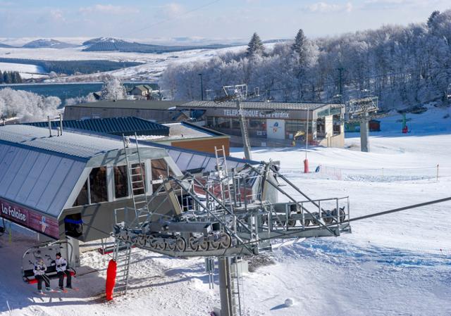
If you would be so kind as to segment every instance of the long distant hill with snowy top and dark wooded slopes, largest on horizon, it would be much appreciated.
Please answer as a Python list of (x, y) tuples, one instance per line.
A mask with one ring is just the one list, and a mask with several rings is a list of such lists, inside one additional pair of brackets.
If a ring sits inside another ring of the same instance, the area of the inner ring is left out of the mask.
[(127, 53), (170, 53), (174, 51), (190, 51), (192, 49), (222, 49), (232, 45), (212, 44), (204, 46), (163, 46), (152, 44), (141, 44), (137, 42), (127, 42), (123, 39), (111, 37), (99, 37), (89, 39), (82, 44), (86, 46), (83, 51), (122, 51)]

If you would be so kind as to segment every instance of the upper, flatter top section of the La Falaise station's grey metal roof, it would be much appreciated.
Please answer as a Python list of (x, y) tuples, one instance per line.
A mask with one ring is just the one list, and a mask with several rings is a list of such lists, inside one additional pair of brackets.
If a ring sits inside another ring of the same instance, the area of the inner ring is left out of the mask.
[(101, 139), (89, 134), (63, 132), (63, 135), (49, 137), (49, 129), (27, 125), (6, 125), (0, 127), (0, 144), (13, 144), (35, 148), (63, 156), (89, 160), (99, 153), (123, 148), (120, 139)]

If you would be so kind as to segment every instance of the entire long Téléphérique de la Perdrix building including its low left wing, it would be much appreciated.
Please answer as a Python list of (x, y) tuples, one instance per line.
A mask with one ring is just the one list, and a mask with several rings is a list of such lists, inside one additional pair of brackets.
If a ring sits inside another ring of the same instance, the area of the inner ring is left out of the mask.
[[(299, 144), (342, 147), (345, 144), (345, 105), (340, 103), (289, 103), (242, 101), (251, 146)], [(230, 143), (242, 144), (235, 102), (226, 101), (101, 101), (66, 106), (64, 120), (135, 116), (157, 122), (195, 119), (201, 125), (230, 135)], [(307, 127), (308, 126), (308, 127)], [(308, 128), (308, 133), (307, 133)]]

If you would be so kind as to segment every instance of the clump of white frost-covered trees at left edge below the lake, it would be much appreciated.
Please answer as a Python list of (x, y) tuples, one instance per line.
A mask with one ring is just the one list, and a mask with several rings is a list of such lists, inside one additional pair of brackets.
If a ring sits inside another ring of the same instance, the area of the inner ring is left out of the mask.
[(56, 96), (40, 96), (28, 91), (0, 89), (0, 115), (17, 117), (21, 122), (45, 120), (58, 114), (61, 100)]

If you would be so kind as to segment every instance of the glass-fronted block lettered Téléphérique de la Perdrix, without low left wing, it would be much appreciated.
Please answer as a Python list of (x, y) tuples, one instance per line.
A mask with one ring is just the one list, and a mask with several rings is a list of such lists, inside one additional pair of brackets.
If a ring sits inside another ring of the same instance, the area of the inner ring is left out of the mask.
[[(242, 102), (252, 146), (344, 146), (345, 107), (338, 103)], [(204, 110), (205, 126), (230, 134), (240, 143), (241, 129), (235, 102), (192, 101), (178, 108)], [(297, 136), (299, 138), (297, 139)]]

